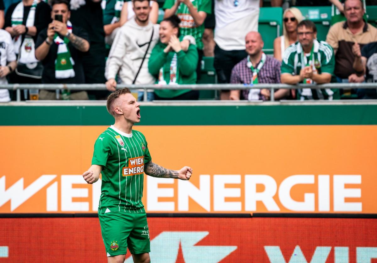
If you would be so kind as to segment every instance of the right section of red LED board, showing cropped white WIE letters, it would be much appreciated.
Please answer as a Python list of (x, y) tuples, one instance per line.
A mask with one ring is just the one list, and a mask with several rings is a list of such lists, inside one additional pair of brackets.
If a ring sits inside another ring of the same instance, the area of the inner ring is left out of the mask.
[(253, 218), (253, 262), (377, 263), (377, 219)]

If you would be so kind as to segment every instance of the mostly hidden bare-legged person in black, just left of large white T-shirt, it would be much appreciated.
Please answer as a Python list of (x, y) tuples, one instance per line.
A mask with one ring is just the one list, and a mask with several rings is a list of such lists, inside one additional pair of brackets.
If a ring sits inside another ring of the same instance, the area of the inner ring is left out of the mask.
[(213, 30), (215, 29), (215, 0), (211, 0), (211, 14), (204, 20), (204, 32), (202, 37), (203, 56), (213, 57), (215, 50), (215, 40), (213, 40)]

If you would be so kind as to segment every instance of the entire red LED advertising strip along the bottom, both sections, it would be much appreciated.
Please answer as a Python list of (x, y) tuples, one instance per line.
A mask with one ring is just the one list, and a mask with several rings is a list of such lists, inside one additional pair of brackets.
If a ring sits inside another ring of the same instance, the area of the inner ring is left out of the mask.
[[(377, 219), (148, 218), (153, 263), (377, 263)], [(98, 218), (0, 218), (0, 263), (105, 263)], [(126, 263), (132, 257), (126, 256)]]

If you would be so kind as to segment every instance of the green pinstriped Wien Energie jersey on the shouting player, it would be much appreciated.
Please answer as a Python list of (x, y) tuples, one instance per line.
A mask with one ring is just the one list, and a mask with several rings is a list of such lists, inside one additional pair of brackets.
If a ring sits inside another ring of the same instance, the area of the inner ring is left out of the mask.
[(144, 135), (110, 126), (94, 144), (92, 165), (101, 165), (102, 186), (98, 213), (143, 213), (144, 163), (152, 159)]

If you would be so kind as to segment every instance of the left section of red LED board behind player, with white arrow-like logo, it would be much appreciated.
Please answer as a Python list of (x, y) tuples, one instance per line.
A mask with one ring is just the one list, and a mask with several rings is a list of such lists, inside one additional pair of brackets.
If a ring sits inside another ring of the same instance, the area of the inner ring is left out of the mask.
[[(148, 222), (154, 263), (250, 261), (251, 218)], [(107, 262), (98, 218), (0, 218), (0, 233), (0, 263)]]

